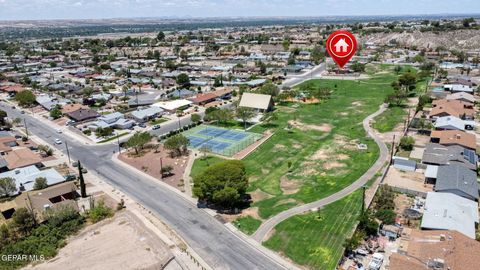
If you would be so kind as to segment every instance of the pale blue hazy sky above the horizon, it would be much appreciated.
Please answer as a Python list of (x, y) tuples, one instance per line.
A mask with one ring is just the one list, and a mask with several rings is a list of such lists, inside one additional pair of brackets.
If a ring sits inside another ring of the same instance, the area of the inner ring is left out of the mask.
[(0, 0), (0, 20), (480, 13), (480, 0)]

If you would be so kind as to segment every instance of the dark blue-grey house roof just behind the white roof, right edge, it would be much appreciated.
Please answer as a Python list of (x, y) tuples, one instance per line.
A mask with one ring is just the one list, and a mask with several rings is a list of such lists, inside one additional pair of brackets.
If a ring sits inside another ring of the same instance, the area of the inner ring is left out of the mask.
[(457, 190), (467, 198), (478, 200), (477, 173), (460, 164), (440, 166), (437, 173), (435, 191)]

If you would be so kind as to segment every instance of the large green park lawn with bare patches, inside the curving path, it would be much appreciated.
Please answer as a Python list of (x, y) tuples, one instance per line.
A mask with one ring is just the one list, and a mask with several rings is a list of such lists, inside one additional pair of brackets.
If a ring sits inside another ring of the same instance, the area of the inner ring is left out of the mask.
[[(396, 78), (393, 72), (381, 72), (360, 81), (305, 82), (331, 88), (330, 99), (321, 104), (277, 106), (277, 119), (269, 124), (274, 126), (274, 135), (244, 159), (250, 175), (248, 191), (254, 198), (255, 193), (263, 194), (252, 205), (258, 207), (261, 218), (338, 192), (373, 165), (379, 150), (366, 137), (362, 121), (377, 111), (385, 96), (393, 92), (390, 84)], [(327, 124), (331, 130), (288, 129), (288, 122), (295, 119), (303, 125)], [(251, 131), (261, 133), (265, 129), (268, 128), (259, 125)], [(368, 150), (357, 150), (358, 143), (367, 144)], [(315, 158), (322, 151), (324, 157)]]

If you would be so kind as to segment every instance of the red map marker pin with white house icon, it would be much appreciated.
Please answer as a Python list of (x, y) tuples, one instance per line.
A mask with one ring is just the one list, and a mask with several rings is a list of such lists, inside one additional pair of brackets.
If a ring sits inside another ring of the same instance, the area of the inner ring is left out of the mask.
[(357, 40), (348, 31), (335, 31), (327, 39), (327, 51), (333, 61), (343, 68), (357, 51)]

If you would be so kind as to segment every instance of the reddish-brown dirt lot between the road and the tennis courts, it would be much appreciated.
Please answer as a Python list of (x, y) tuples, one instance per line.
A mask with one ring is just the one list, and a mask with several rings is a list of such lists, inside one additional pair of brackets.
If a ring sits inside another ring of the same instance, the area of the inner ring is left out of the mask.
[(121, 161), (141, 170), (157, 179), (160, 179), (160, 158), (162, 158), (162, 166), (170, 165), (173, 167), (172, 175), (164, 177), (163, 182), (178, 188), (184, 189), (183, 186), (183, 173), (187, 166), (188, 156), (181, 156), (177, 158), (171, 158), (168, 150), (165, 150), (163, 146), (160, 146), (157, 151), (155, 149), (145, 149), (139, 156), (135, 155), (135, 151), (132, 149), (128, 152), (122, 153), (118, 157)]

